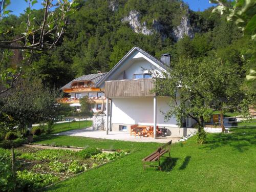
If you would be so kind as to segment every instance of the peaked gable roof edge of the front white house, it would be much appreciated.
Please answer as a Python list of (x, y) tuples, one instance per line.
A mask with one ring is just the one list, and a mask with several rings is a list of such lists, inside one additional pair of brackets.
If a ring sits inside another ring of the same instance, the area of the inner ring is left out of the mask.
[(139, 47), (133, 47), (128, 53), (126, 53), (123, 56), (123, 58), (121, 58), (121, 60), (118, 61), (118, 63), (110, 70), (110, 72), (108, 74), (106, 74), (103, 78), (100, 79), (100, 81), (96, 84), (96, 87), (99, 87), (100, 84), (102, 84), (106, 78), (108, 78), (111, 74), (113, 74), (113, 72), (122, 64), (122, 62), (126, 58), (128, 58), (135, 50), (139, 51), (140, 53), (142, 53), (146, 57), (148, 57), (151, 60), (153, 60), (155, 63), (157, 63), (164, 70), (167, 70), (168, 66), (166, 66), (165, 63), (161, 62), (156, 57), (153, 57), (151, 54), (145, 52), (144, 50), (140, 49)]

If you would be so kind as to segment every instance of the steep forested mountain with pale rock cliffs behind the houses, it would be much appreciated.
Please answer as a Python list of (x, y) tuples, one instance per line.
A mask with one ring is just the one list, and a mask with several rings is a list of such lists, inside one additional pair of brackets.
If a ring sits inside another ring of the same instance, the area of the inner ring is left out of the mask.
[[(241, 66), (243, 62), (243, 50), (238, 49), (241, 32), (236, 25), (226, 22), (225, 15), (212, 13), (212, 8), (194, 12), (178, 0), (79, 0), (78, 3), (58, 47), (34, 54), (34, 73), (46, 86), (61, 87), (80, 75), (108, 72), (134, 46), (157, 58), (170, 53), (172, 61), (219, 54), (230, 63)], [(37, 17), (43, 13), (33, 11)], [(24, 17), (10, 19), (19, 24)], [(243, 42), (247, 49), (247, 40)]]

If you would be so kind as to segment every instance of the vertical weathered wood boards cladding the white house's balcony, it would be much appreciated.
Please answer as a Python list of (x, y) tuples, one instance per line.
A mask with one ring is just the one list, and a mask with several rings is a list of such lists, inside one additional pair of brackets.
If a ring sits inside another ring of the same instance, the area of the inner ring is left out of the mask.
[(154, 96), (153, 87), (152, 78), (105, 81), (105, 97)]

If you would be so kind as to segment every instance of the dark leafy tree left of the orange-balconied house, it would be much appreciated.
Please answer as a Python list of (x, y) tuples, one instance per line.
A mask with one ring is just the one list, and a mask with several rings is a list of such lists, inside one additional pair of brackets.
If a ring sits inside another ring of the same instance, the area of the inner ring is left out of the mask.
[(23, 134), (31, 122), (55, 117), (59, 97), (58, 90), (43, 87), (39, 79), (20, 79), (3, 112), (11, 116), (12, 121), (18, 124), (20, 134)]

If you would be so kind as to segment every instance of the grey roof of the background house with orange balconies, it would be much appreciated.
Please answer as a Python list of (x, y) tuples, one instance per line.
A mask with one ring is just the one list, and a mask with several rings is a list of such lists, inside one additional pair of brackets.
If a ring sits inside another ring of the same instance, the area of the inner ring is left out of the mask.
[(99, 80), (104, 77), (108, 73), (96, 73), (96, 74), (89, 74), (89, 75), (83, 75), (80, 77), (77, 77), (70, 81), (66, 86), (63, 86), (61, 89), (69, 89), (71, 88), (72, 82), (76, 81), (92, 81), (92, 87), (96, 87), (96, 84), (99, 82)]

